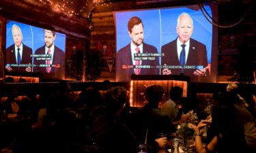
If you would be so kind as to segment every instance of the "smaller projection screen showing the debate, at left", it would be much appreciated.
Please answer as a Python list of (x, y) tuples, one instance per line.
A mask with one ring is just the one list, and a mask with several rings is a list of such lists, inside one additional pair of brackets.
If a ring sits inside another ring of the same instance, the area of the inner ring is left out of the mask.
[(66, 35), (8, 20), (5, 47), (7, 74), (65, 78)]

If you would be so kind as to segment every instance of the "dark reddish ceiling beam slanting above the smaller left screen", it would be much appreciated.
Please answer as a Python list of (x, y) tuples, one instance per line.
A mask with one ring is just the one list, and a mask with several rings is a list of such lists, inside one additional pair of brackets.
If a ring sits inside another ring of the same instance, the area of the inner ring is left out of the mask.
[(0, 1), (0, 14), (8, 20), (16, 20), (35, 27), (52, 29), (70, 37), (87, 39), (90, 35), (90, 22), (85, 18), (57, 12), (39, 1)]

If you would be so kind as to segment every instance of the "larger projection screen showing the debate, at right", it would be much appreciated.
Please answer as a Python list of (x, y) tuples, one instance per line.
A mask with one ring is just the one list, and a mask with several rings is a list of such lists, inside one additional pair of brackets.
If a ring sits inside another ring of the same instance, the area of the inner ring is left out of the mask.
[[(216, 7), (204, 8), (216, 18)], [(217, 29), (198, 5), (128, 10), (114, 16), (116, 81), (130, 81), (135, 74), (186, 75), (191, 82), (216, 82)]]

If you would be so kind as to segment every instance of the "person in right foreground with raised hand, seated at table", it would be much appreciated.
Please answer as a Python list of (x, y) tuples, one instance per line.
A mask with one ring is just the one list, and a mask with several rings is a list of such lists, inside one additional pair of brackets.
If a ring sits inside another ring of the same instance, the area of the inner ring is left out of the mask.
[[(212, 108), (212, 121), (201, 120), (197, 125), (197, 152), (255, 152), (256, 131), (253, 117), (240, 104), (241, 101), (236, 94), (221, 92), (216, 96)], [(251, 122), (252, 126), (246, 126), (248, 122)], [(212, 132), (208, 135), (211, 141), (203, 147), (200, 130), (208, 124)]]

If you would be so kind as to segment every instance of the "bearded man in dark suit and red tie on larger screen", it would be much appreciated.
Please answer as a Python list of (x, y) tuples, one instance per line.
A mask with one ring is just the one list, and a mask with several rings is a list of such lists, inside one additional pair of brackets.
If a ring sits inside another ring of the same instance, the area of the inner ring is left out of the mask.
[[(130, 43), (121, 48), (117, 52), (116, 58), (116, 80), (127, 82), (130, 81), (131, 75), (159, 75), (160, 70), (156, 68), (159, 65), (158, 56), (147, 56), (146, 60), (137, 59), (136, 53), (147, 54), (147, 53), (158, 53), (154, 46), (145, 44), (144, 33), (143, 33), (143, 23), (140, 18), (134, 16), (128, 21), (128, 33), (130, 35)], [(143, 57), (143, 56), (141, 56)], [(151, 59), (149, 59), (151, 58)], [(139, 69), (134, 68), (135, 65), (139, 65)], [(154, 66), (149, 67), (149, 66)], [(141, 68), (144, 67), (144, 68)], [(146, 68), (145, 68), (146, 67)]]

